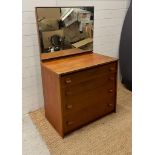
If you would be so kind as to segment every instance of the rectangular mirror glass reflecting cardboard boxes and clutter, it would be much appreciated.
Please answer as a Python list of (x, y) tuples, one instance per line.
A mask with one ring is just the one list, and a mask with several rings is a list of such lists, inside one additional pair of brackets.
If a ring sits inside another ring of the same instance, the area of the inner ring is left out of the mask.
[(94, 7), (37, 7), (40, 53), (93, 51)]

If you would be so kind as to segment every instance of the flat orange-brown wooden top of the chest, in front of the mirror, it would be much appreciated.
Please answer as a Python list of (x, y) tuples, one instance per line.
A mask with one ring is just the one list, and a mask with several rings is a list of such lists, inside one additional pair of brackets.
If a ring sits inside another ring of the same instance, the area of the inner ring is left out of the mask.
[(55, 59), (48, 62), (42, 62), (42, 66), (52, 70), (58, 75), (61, 75), (116, 60), (117, 59), (115, 58), (97, 53), (85, 53), (71, 57), (65, 57), (62, 59)]

